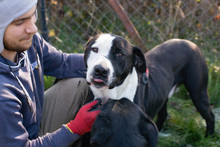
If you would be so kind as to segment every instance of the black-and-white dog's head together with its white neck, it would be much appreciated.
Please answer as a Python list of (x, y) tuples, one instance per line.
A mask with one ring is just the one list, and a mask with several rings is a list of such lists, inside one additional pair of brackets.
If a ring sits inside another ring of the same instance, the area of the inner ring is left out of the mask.
[(106, 102), (122, 97), (134, 100), (138, 73), (146, 71), (144, 55), (119, 36), (97, 35), (85, 49), (86, 80), (95, 97)]

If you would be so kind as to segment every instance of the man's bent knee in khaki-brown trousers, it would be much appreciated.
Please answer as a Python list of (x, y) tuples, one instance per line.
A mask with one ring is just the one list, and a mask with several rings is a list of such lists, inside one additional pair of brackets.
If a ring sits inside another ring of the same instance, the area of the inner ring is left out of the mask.
[(92, 99), (84, 78), (60, 80), (44, 93), (41, 134), (52, 132), (74, 119), (80, 107)]

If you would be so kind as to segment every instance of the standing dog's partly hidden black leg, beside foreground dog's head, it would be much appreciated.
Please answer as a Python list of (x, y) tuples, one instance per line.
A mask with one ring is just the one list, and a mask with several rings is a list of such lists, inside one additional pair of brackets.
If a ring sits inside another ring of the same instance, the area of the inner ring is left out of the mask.
[(167, 119), (168, 113), (167, 113), (167, 101), (163, 104), (163, 107), (160, 109), (159, 113), (157, 114), (157, 121), (156, 125), (159, 131), (161, 131), (163, 123)]

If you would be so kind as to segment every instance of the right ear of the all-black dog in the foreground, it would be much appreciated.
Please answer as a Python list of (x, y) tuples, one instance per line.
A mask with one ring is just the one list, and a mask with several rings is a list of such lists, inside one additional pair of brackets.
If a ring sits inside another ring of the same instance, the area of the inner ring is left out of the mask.
[(158, 129), (151, 119), (145, 115), (141, 114), (138, 129), (140, 133), (146, 138), (149, 147), (155, 147), (158, 142)]

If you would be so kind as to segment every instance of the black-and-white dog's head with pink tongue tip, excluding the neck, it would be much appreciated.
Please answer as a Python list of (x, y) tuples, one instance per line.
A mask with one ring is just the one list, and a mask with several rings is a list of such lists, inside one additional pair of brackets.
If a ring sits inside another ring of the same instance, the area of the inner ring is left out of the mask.
[(91, 38), (85, 48), (86, 80), (97, 89), (121, 85), (133, 67), (146, 71), (143, 53), (126, 39), (112, 34)]

